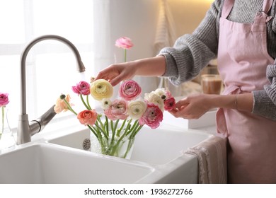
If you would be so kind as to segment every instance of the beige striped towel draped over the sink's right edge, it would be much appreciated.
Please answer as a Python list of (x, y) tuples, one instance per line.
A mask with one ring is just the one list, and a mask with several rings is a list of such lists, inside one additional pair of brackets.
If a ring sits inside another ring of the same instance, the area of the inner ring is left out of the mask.
[(200, 184), (227, 183), (226, 139), (211, 136), (185, 153), (197, 156)]

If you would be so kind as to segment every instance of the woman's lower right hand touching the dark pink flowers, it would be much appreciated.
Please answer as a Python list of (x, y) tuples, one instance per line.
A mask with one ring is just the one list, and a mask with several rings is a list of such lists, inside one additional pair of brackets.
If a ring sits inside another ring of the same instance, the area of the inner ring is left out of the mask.
[(175, 117), (183, 117), (185, 119), (198, 119), (207, 111), (214, 108), (212, 101), (214, 95), (196, 94), (190, 95), (176, 103), (176, 108), (170, 113)]

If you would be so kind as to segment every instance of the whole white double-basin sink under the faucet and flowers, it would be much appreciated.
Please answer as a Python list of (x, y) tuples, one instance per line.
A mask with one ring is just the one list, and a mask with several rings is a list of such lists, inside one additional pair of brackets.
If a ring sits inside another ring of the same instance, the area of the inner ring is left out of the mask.
[(211, 134), (143, 127), (130, 159), (85, 151), (88, 129), (59, 132), (0, 153), (0, 183), (196, 183), (197, 158), (185, 153)]

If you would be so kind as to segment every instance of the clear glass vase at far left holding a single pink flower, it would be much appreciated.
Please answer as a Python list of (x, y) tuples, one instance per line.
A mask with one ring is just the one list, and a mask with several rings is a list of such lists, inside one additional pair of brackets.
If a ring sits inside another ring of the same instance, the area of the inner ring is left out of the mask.
[(10, 148), (16, 144), (11, 127), (8, 124), (8, 109), (0, 107), (0, 150)]

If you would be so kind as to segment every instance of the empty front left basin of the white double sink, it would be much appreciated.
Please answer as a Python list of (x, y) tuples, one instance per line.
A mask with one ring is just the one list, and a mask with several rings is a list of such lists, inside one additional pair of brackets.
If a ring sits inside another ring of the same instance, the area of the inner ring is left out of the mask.
[(136, 183), (154, 168), (50, 144), (0, 155), (0, 183)]

